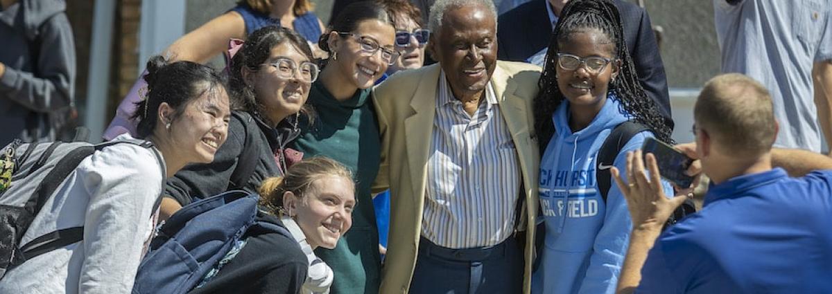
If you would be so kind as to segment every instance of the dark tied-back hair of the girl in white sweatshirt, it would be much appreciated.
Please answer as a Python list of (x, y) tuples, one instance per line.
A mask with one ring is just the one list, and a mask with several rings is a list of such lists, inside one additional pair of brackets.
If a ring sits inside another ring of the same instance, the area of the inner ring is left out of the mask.
[(140, 138), (153, 134), (162, 102), (171, 105), (174, 109), (171, 120), (176, 120), (192, 100), (218, 88), (228, 90), (225, 75), (210, 66), (191, 61), (168, 63), (162, 56), (152, 56), (147, 61), (144, 80), (147, 82), (145, 97), (136, 102), (136, 113), (131, 116), (131, 120), (138, 121), (136, 132)]

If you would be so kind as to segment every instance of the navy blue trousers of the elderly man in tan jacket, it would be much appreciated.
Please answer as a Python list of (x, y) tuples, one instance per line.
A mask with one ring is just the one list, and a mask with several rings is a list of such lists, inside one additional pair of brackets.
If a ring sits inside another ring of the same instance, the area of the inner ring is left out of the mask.
[(490, 247), (451, 249), (419, 240), (410, 294), (518, 294), (522, 250), (514, 237)]

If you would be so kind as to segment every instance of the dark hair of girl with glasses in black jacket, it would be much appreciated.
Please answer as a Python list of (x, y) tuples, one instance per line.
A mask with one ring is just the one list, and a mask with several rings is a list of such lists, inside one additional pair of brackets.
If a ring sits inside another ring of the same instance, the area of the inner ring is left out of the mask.
[[(245, 66), (245, 68), (251, 71), (259, 71), (260, 65), (269, 59), (271, 49), (285, 42), (290, 42), (300, 50), (300, 53), (303, 53), (306, 58), (314, 62), (315, 59), (309, 44), (306, 43), (304, 37), (300, 37), (295, 31), (285, 27), (268, 26), (252, 32), (245, 40), (240, 51), (237, 51), (234, 58), (231, 59), (230, 88), (232, 110), (242, 110), (252, 115), (257, 115), (260, 119), (267, 119), (265, 115), (260, 114), (260, 103), (257, 101), (253, 87), (245, 84), (242, 69)], [(314, 116), (314, 110), (312, 110), (312, 107), (308, 103), (305, 103), (300, 108), (300, 113), (310, 119)], [(273, 123), (277, 124), (280, 121), (273, 121)]]

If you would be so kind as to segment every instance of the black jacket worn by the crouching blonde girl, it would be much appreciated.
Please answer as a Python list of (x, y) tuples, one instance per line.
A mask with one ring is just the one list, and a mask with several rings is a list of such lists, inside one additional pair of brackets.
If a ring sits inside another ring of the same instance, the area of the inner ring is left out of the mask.
[[(265, 213), (259, 213), (258, 219), (283, 226), (279, 219)], [(191, 293), (300, 293), (309, 262), (295, 239), (254, 229), (245, 234), (245, 247), (237, 256)]]

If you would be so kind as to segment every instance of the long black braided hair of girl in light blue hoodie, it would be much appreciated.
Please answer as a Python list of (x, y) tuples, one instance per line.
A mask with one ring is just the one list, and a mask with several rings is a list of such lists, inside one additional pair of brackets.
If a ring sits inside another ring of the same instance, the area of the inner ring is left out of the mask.
[(534, 129), (542, 149), (545, 149), (555, 133), (552, 113), (566, 99), (557, 86), (555, 75), (559, 44), (570, 42), (573, 34), (587, 32), (587, 29), (601, 31), (616, 46), (613, 53), (621, 60), (621, 70), (617, 79), (610, 82), (610, 91), (615, 91), (622, 108), (634, 116), (636, 122), (649, 127), (657, 139), (672, 143), (672, 129), (665, 125), (658, 106), (646, 95), (638, 81), (636, 66), (627, 51), (622, 27), (618, 8), (610, 0), (572, 0), (563, 7), (549, 41), (546, 64), (538, 82), (541, 91), (534, 100)]

